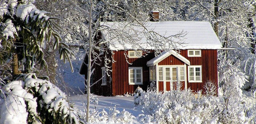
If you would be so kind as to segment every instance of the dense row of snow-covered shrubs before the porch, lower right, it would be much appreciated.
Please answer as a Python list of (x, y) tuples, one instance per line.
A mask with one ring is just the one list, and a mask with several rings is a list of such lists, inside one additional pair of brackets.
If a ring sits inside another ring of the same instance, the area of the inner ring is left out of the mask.
[[(140, 94), (140, 95), (139, 95)], [(242, 99), (193, 94), (188, 90), (157, 93), (139, 90), (134, 103), (140, 114), (136, 120), (147, 124), (253, 124), (256, 105)]]

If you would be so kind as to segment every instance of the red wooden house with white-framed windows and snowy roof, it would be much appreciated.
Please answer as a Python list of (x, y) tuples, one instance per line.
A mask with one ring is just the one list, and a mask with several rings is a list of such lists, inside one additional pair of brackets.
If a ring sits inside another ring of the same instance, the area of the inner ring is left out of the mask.
[[(91, 88), (92, 93), (105, 96), (124, 95), (127, 92), (133, 93), (137, 87), (146, 90), (152, 81), (156, 82), (158, 91), (171, 90), (172, 82), (177, 80), (182, 82), (182, 89), (191, 88), (194, 92), (203, 90), (204, 93), (203, 86), (209, 80), (218, 86), (217, 50), (222, 45), (209, 22), (149, 22), (150, 27), (160, 34), (172, 35), (186, 31), (183, 40), (185, 44), (178, 46), (179, 52), (163, 51), (158, 56), (152, 52), (143, 56), (143, 51), (135, 52), (131, 45), (126, 45), (124, 49), (116, 42), (117, 48), (110, 47), (114, 51), (111, 57), (116, 61), (109, 62), (112, 72), (107, 76), (104, 64), (95, 66), (93, 81), (103, 78)], [(146, 41), (145, 37), (141, 41)], [(145, 49), (150, 50), (149, 47)], [(86, 69), (82, 64), (80, 73), (85, 74)]]

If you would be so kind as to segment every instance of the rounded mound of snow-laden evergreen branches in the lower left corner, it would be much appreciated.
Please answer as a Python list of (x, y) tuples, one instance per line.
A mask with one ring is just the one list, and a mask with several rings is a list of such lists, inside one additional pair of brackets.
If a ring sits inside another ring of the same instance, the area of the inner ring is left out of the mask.
[(0, 95), (1, 124), (73, 124), (82, 123), (66, 95), (35, 74), (22, 75), (6, 84)]

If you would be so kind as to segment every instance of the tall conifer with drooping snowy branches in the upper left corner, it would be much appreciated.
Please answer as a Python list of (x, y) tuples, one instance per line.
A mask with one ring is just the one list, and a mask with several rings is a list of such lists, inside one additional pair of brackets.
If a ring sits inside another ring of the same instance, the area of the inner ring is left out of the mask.
[[(55, 39), (60, 58), (70, 62), (73, 54), (56, 29), (56, 18), (47, 16), (33, 4), (33, 0), (2, 0), (0, 2), (0, 62), (12, 62), (13, 78), (21, 72), (33, 70), (34, 65), (47, 68), (43, 49)], [(12, 60), (12, 61), (9, 61)], [(71, 63), (71, 62), (70, 62)], [(22, 69), (19, 68), (22, 65)], [(72, 67), (72, 65), (71, 65)], [(21, 69), (21, 71), (19, 70)], [(73, 69), (72, 69), (73, 71)]]

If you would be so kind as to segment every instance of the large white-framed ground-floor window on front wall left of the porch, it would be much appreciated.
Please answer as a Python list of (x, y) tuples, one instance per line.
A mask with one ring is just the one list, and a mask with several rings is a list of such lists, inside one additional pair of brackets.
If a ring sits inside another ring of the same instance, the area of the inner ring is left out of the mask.
[(142, 67), (129, 67), (129, 85), (142, 84)]

